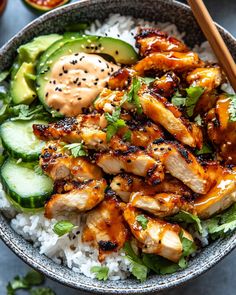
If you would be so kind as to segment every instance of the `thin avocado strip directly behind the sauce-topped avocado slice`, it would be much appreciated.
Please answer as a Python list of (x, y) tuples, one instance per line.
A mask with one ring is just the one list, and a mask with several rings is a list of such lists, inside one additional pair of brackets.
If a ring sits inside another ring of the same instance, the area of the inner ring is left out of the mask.
[(66, 33), (62, 39), (54, 42), (51, 46), (48, 47), (46, 51), (40, 56), (39, 61), (37, 63), (37, 73), (43, 72), (47, 69), (46, 61), (47, 59), (59, 48), (61, 48), (65, 43), (73, 41), (77, 38), (81, 37), (79, 33)]

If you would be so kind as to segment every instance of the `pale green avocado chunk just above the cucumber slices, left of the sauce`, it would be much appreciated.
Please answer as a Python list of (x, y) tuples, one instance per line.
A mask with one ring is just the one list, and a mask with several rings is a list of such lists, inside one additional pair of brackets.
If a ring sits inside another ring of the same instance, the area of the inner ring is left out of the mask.
[(23, 62), (11, 82), (10, 93), (14, 104), (31, 104), (37, 97), (32, 81), (27, 75), (34, 75), (34, 65)]

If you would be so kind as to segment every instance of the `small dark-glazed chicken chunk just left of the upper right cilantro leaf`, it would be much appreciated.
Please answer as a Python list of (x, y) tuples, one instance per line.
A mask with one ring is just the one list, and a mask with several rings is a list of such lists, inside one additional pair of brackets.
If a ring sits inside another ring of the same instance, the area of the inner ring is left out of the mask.
[(163, 97), (170, 98), (176, 92), (180, 79), (174, 72), (168, 72), (152, 83), (152, 91)]

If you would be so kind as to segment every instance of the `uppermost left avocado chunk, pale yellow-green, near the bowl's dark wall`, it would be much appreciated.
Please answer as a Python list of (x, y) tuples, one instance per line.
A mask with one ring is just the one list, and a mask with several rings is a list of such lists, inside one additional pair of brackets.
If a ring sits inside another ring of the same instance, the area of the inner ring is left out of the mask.
[(62, 36), (50, 34), (34, 38), (31, 42), (21, 45), (18, 49), (21, 62), (34, 63), (39, 55)]

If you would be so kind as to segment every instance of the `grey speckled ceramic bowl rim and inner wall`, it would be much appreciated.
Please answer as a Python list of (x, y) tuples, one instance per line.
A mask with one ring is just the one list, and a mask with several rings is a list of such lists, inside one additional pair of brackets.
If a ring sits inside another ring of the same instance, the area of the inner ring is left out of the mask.
[[(15, 35), (0, 49), (0, 71), (11, 66), (16, 49), (35, 36), (62, 32), (65, 25), (74, 22), (104, 19), (109, 13), (121, 13), (134, 17), (171, 22), (179, 31), (186, 32), (185, 41), (189, 46), (204, 41), (188, 6), (171, 0), (84, 0), (58, 8), (36, 19)], [(228, 48), (236, 59), (236, 40), (219, 27)], [(217, 240), (192, 259), (189, 267), (172, 275), (152, 275), (146, 282), (127, 279), (123, 281), (100, 282), (74, 273), (40, 255), (29, 242), (16, 234), (8, 220), (0, 213), (0, 237), (22, 260), (48, 277), (70, 287), (87, 292), (107, 294), (144, 294), (163, 291), (184, 283), (210, 269), (236, 246), (236, 234), (224, 240)]]

